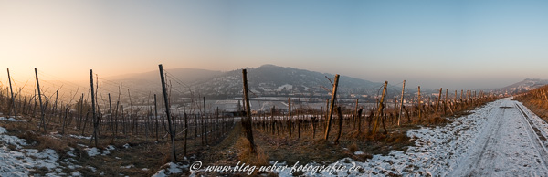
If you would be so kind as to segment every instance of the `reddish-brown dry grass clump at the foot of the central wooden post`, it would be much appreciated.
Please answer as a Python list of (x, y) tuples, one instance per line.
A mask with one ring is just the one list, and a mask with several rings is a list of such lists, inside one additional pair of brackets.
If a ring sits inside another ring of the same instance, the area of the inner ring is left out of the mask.
[(255, 166), (269, 165), (269, 155), (259, 146), (255, 148), (256, 153), (253, 153), (248, 139), (243, 136), (236, 141), (236, 148), (237, 151), (239, 151), (237, 154), (237, 159), (239, 161)]

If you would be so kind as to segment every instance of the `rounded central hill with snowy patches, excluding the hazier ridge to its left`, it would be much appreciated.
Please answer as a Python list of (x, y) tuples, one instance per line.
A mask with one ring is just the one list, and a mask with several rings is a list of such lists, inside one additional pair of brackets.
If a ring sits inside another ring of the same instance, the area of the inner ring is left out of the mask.
[[(233, 70), (224, 75), (207, 80), (197, 87), (207, 93), (231, 94), (241, 92), (241, 70)], [(327, 77), (327, 78), (326, 78)], [(327, 95), (332, 89), (333, 74), (320, 73), (298, 68), (263, 65), (248, 68), (248, 86), (254, 94), (276, 95)], [(370, 94), (370, 88), (381, 85), (368, 80), (341, 76), (341, 94)], [(327, 90), (326, 90), (327, 89)]]

